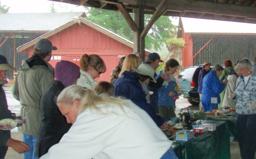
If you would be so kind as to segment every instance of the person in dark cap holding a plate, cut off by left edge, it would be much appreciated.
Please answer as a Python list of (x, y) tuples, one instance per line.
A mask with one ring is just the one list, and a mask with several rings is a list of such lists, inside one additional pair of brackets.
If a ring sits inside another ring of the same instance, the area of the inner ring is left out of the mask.
[[(8, 69), (14, 69), (13, 66), (9, 65), (6, 58), (0, 55), (0, 83), (5, 77), (5, 72)], [(6, 97), (4, 93), (4, 89), (0, 85), (0, 120), (2, 119), (10, 119), (12, 118), (12, 113), (9, 111)], [(10, 130), (0, 130), (0, 159), (3, 159), (8, 147), (12, 147), (13, 150), (18, 153), (22, 153), (24, 151), (30, 150), (29, 146), (27, 146), (24, 142), (14, 140), (10, 136)]]

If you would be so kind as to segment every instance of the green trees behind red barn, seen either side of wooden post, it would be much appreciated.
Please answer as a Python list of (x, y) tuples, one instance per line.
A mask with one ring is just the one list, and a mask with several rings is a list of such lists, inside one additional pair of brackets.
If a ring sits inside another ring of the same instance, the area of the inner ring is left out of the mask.
[[(86, 19), (133, 41), (133, 32), (121, 13), (89, 7), (85, 7), (85, 9), (88, 11)], [(134, 17), (133, 13), (130, 13), (130, 15), (132, 18)], [(146, 26), (152, 15), (145, 14), (144, 17)], [(177, 26), (172, 25), (171, 22), (167, 16), (162, 16), (155, 21), (145, 38), (146, 49), (159, 49), (162, 43), (166, 43), (170, 36), (176, 34)]]

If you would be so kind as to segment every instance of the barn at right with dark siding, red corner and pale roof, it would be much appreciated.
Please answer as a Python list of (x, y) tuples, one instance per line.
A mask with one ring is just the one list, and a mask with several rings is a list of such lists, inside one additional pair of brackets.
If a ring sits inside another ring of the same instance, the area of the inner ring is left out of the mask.
[(181, 17), (179, 28), (179, 37), (185, 39), (183, 68), (206, 60), (224, 64), (230, 59), (235, 64), (255, 55), (256, 24)]

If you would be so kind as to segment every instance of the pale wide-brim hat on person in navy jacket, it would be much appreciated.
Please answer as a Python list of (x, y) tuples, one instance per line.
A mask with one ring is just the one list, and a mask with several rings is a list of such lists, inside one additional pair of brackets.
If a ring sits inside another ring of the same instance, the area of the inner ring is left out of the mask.
[(150, 76), (152, 79), (151, 81), (156, 83), (156, 80), (154, 78), (154, 69), (149, 64), (140, 64), (138, 68), (132, 69), (139, 74)]

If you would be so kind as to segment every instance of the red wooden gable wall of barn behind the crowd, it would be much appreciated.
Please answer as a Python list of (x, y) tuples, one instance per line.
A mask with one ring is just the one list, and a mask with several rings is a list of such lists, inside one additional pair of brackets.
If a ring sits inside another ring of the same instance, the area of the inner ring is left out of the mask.
[[(60, 60), (69, 60), (79, 65), (79, 59), (84, 54), (101, 56), (106, 64), (106, 72), (96, 79), (98, 82), (109, 82), (110, 74), (118, 64), (120, 57), (133, 52), (131, 47), (86, 25), (75, 24), (48, 39), (53, 46), (58, 48), (53, 52), (52, 59), (49, 61), (53, 67)], [(33, 54), (33, 49), (34, 46), (28, 48), (29, 57)]]

